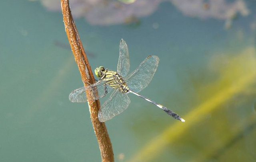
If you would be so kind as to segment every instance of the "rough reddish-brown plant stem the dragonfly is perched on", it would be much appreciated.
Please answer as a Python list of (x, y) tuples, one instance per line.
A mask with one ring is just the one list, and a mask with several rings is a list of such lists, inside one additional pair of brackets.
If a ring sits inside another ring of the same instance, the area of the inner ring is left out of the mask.
[[(76, 25), (72, 18), (72, 14), (69, 7), (69, 0), (61, 0), (61, 9), (63, 14), (65, 30), (68, 36), (68, 41), (70, 43), (73, 55), (75, 57), (78, 69), (80, 71), (82, 81), (84, 82), (84, 86), (88, 86), (88, 84), (94, 83), (95, 79), (88, 59), (86, 57), (86, 53), (84, 51), (80, 37), (78, 35)], [(88, 105), (90, 110), (90, 118), (92, 120), (94, 132), (100, 147), (102, 162), (114, 162), (112, 144), (108, 136), (106, 125), (105, 123), (101, 123), (98, 120), (98, 110), (100, 108), (100, 102), (99, 100), (93, 101), (91, 93), (92, 92), (86, 91), (89, 103)]]

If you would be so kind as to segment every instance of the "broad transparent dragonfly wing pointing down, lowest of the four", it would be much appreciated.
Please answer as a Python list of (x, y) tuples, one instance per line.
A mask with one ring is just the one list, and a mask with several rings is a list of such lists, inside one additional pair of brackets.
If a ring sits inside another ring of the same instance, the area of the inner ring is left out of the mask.
[(130, 98), (127, 94), (120, 93), (118, 88), (116, 88), (110, 98), (108, 98), (100, 108), (98, 113), (99, 121), (107, 121), (122, 113), (128, 107), (130, 102)]

